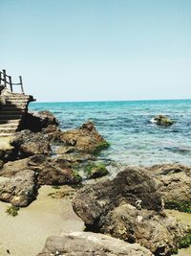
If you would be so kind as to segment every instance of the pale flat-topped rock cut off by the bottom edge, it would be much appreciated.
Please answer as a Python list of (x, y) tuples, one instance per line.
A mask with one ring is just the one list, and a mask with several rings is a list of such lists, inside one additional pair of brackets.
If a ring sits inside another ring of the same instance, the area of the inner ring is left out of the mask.
[(91, 232), (63, 233), (47, 239), (38, 256), (152, 256), (139, 244), (127, 244), (121, 240)]

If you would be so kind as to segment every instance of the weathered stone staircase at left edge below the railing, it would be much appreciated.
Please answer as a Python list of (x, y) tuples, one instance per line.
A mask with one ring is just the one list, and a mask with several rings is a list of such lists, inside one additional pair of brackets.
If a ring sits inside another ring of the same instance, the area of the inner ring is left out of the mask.
[(6, 89), (0, 96), (0, 137), (11, 136), (19, 128), (29, 103), (34, 100), (30, 95), (13, 93)]

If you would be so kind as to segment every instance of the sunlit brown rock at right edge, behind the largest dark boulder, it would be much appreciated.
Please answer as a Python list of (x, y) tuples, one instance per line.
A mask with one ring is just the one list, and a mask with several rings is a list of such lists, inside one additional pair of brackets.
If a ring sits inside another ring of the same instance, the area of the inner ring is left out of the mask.
[(191, 168), (179, 164), (148, 168), (164, 201), (191, 201)]

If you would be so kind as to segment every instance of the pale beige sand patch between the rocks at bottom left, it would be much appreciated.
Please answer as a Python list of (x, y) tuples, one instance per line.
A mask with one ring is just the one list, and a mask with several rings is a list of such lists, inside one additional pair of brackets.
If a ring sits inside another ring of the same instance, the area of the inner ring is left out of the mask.
[(53, 192), (55, 189), (51, 186), (41, 187), (37, 200), (21, 208), (16, 217), (5, 213), (10, 204), (0, 202), (1, 256), (36, 256), (47, 237), (58, 235), (61, 231), (83, 230), (84, 224), (74, 214), (71, 201), (49, 197)]

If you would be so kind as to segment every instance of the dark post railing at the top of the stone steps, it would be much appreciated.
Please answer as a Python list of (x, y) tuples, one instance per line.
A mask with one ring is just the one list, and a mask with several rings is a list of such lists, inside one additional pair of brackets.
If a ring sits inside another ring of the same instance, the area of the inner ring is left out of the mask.
[(5, 69), (0, 71), (0, 85), (5, 86), (6, 88), (8, 88), (10, 86), (11, 92), (13, 92), (13, 86), (14, 85), (18, 85), (18, 86), (20, 85), (21, 86), (21, 92), (24, 94), (22, 77), (19, 76), (19, 82), (17, 82), (17, 83), (12, 82), (11, 76), (7, 75)]

